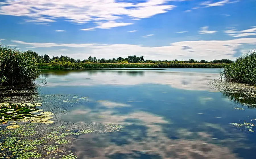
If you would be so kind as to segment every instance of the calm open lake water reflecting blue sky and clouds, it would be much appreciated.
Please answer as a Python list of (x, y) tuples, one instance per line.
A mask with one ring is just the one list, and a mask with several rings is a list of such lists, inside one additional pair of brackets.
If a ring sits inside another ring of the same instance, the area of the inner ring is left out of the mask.
[(211, 89), (207, 83), (219, 72), (43, 70), (37, 82), (47, 81), (40, 95), (54, 96), (43, 103), (67, 111), (62, 121), (125, 126), (120, 132), (79, 136), (70, 148), (78, 158), (255, 158), (255, 132), (230, 123), (256, 123), (256, 109)]

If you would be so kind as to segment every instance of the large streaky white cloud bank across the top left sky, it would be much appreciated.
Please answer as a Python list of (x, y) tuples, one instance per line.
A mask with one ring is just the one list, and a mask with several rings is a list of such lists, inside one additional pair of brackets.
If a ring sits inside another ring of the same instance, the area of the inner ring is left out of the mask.
[[(170, 0), (148, 0), (143, 2), (114, 1), (114, 0), (5, 0), (0, 6), (0, 14), (23, 16), (26, 22), (50, 23), (57, 18), (64, 18), (73, 23), (101, 22), (100, 28), (111, 28), (114, 24), (108, 24), (109, 20), (116, 21), (123, 16), (132, 20), (148, 18), (172, 10), (175, 6), (169, 5)], [(105, 24), (104, 24), (105, 23)], [(107, 25), (107, 27), (104, 27)], [(129, 24), (131, 25), (131, 24)]]

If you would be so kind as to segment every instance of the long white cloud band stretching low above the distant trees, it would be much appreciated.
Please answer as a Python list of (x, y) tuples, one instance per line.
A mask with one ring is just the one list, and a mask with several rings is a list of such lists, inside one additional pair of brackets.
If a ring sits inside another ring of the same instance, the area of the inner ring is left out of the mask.
[[(188, 60), (205, 59), (211, 61), (213, 59), (234, 59), (237, 49), (243, 44), (254, 45), (256, 48), (256, 38), (237, 38), (233, 40), (197, 40), (197, 41), (181, 41), (174, 42), (169, 46), (147, 47), (131, 44), (56, 44), (56, 43), (29, 43), (23, 41), (12, 41), (32, 47), (69, 47), (83, 48), (84, 52), (69, 54), (72, 58), (87, 59), (88, 55), (97, 58), (116, 58), (127, 57), (130, 55), (144, 55), (144, 59), (154, 60)], [(56, 56), (54, 51), (51, 56)], [(73, 53), (74, 52), (74, 53)], [(47, 51), (44, 51), (44, 54)]]

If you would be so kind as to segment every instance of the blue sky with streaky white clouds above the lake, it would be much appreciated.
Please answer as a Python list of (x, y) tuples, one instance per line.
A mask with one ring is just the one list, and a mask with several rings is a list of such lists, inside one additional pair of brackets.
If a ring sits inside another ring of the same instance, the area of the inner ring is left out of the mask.
[(1, 0), (0, 42), (40, 55), (235, 59), (256, 48), (255, 0)]

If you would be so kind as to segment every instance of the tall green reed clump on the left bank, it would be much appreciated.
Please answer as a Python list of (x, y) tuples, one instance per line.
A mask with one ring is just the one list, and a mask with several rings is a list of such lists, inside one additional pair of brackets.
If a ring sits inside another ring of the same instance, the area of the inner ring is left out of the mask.
[(36, 59), (26, 52), (0, 45), (1, 83), (20, 84), (32, 82), (38, 77)]

